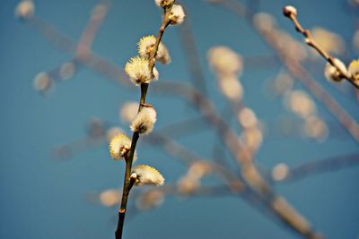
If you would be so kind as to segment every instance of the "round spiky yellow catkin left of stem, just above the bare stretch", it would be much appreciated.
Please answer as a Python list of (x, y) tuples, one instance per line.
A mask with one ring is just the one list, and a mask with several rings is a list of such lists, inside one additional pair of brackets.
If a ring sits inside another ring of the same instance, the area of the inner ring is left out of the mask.
[(136, 56), (127, 62), (125, 66), (125, 72), (135, 85), (139, 85), (141, 83), (150, 83), (152, 79), (152, 73), (148, 65), (149, 64), (147, 59)]

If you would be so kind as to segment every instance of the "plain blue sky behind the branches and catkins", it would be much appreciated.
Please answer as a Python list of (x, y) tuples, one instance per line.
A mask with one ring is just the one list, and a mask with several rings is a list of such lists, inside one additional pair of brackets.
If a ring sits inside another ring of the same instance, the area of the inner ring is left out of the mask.
[[(273, 14), (278, 27), (294, 38), (301, 40), (291, 22), (282, 16), (285, 4), (297, 6), (304, 26), (321, 26), (337, 32), (349, 40), (346, 47), (351, 49), (355, 15), (348, 12), (346, 1), (262, 2), (260, 10)], [(35, 0), (34, 3), (39, 18), (77, 41), (97, 1)], [(215, 76), (206, 63), (208, 48), (224, 45), (244, 56), (272, 55), (273, 52), (245, 21), (232, 13), (205, 1), (181, 3), (193, 26), (210, 98), (222, 112), (227, 103), (217, 90)], [(48, 43), (26, 22), (14, 19), (16, 4), (18, 1), (7, 0), (0, 7), (0, 187), (3, 192), (0, 237), (111, 238), (117, 210), (84, 201), (84, 195), (119, 188), (124, 166), (118, 166), (109, 158), (106, 145), (81, 151), (66, 161), (54, 159), (51, 149), (86, 137), (86, 124), (92, 117), (128, 131), (127, 125), (118, 119), (118, 108), (126, 101), (137, 100), (138, 92), (106, 81), (85, 68), (71, 80), (58, 84), (47, 97), (33, 90), (37, 73), (56, 68), (72, 55)], [(123, 67), (136, 55), (138, 39), (156, 34), (160, 21), (161, 11), (153, 1), (114, 1), (95, 38), (93, 51)], [(176, 27), (165, 32), (163, 42), (171, 51), (172, 63), (158, 66), (160, 81), (191, 83), (179, 34)], [(350, 57), (357, 55), (355, 51), (349, 52)], [(324, 62), (319, 64), (323, 66)], [(281, 99), (269, 98), (266, 93), (265, 86), (279, 70), (280, 66), (245, 69), (241, 77), (245, 103), (269, 123), (275, 122), (279, 115), (288, 114)], [(316, 75), (323, 87), (358, 119), (357, 102), (337, 93), (321, 74)], [(296, 88), (302, 89), (302, 86), (296, 85)], [(148, 100), (158, 111), (158, 128), (197, 115), (179, 98), (159, 97), (151, 89)], [(340, 129), (324, 107), (318, 104), (318, 108), (321, 117)], [(179, 141), (210, 158), (215, 136), (215, 132), (208, 129)], [(145, 145), (141, 139), (138, 147), (141, 163), (158, 168), (166, 182), (174, 183), (185, 173), (185, 167), (158, 147)], [(297, 166), (357, 150), (357, 142), (346, 132), (342, 132), (341, 137), (329, 135), (323, 143), (268, 134), (256, 158), (263, 168), (280, 162)], [(359, 167), (353, 167), (290, 184), (276, 184), (275, 188), (328, 238), (356, 238), (359, 235), (358, 173)], [(208, 180), (208, 183), (214, 182)], [(168, 198), (158, 209), (128, 220), (125, 235), (126, 238), (299, 238), (235, 196)]]

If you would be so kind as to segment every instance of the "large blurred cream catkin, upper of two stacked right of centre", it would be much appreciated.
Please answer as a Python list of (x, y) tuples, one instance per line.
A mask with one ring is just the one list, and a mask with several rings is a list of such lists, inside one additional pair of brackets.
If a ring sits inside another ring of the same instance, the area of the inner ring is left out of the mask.
[(241, 73), (243, 70), (241, 55), (229, 47), (212, 47), (208, 51), (208, 62), (212, 69), (218, 73), (234, 74)]

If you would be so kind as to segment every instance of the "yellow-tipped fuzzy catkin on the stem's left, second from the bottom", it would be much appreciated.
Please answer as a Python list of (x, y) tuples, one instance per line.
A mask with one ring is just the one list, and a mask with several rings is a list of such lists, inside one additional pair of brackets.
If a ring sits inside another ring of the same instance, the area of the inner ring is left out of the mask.
[[(118, 134), (109, 141), (109, 154), (111, 158), (118, 160), (125, 158), (131, 148), (131, 140), (125, 134)], [(133, 160), (137, 158), (136, 151)]]

